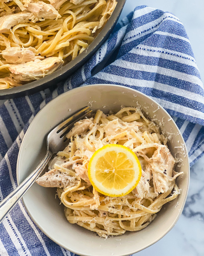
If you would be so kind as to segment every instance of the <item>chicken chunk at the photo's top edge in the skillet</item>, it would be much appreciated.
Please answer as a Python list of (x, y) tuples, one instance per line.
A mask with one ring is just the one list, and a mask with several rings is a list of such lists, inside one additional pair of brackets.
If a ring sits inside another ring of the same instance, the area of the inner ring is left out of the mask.
[(45, 19), (58, 19), (62, 17), (51, 4), (43, 1), (29, 3), (27, 10), (33, 13), (31, 20), (35, 22), (38, 20), (42, 21)]

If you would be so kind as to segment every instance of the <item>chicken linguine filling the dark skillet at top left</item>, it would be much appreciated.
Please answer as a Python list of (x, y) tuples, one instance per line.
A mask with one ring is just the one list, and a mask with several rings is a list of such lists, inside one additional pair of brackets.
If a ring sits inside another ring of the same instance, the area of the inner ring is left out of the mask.
[(51, 74), (82, 53), (116, 0), (0, 0), (0, 89)]

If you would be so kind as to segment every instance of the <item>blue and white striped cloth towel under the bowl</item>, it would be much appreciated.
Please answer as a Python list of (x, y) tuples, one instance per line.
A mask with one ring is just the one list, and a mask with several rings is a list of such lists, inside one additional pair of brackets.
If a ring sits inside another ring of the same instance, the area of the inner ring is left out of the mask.
[[(100, 70), (101, 63), (106, 67)], [(183, 24), (173, 14), (140, 6), (80, 69), (48, 95), (7, 100), (0, 107), (0, 199), (17, 186), (21, 140), (35, 114), (51, 99), (87, 84), (113, 83), (147, 94), (173, 116), (191, 166), (204, 152), (204, 89)], [(45, 236), (19, 202), (0, 225), (1, 256), (72, 256)]]

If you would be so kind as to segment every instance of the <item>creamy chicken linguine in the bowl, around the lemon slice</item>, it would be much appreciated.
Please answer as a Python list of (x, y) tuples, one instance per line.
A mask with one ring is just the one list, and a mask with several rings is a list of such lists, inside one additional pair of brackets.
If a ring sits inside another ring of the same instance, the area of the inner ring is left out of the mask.
[[(68, 146), (51, 160), (49, 171), (37, 179), (44, 187), (57, 187), (65, 205), (65, 216), (99, 236), (120, 235), (147, 227), (162, 206), (175, 199), (175, 159), (159, 127), (137, 108), (123, 108), (116, 114), (96, 115), (76, 122), (67, 134)], [(138, 157), (142, 175), (126, 196), (100, 194), (88, 179), (88, 163), (99, 148), (120, 144)]]

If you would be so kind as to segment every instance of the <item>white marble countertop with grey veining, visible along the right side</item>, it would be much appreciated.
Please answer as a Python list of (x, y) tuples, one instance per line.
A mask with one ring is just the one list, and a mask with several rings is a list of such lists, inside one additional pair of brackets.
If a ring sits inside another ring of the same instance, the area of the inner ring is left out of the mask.
[[(184, 24), (204, 81), (204, 1), (126, 0), (121, 18), (137, 5), (172, 12)], [(175, 227), (160, 241), (134, 256), (204, 256), (204, 157), (192, 168), (186, 205)], [(137, 242), (137, 241), (135, 241)]]

